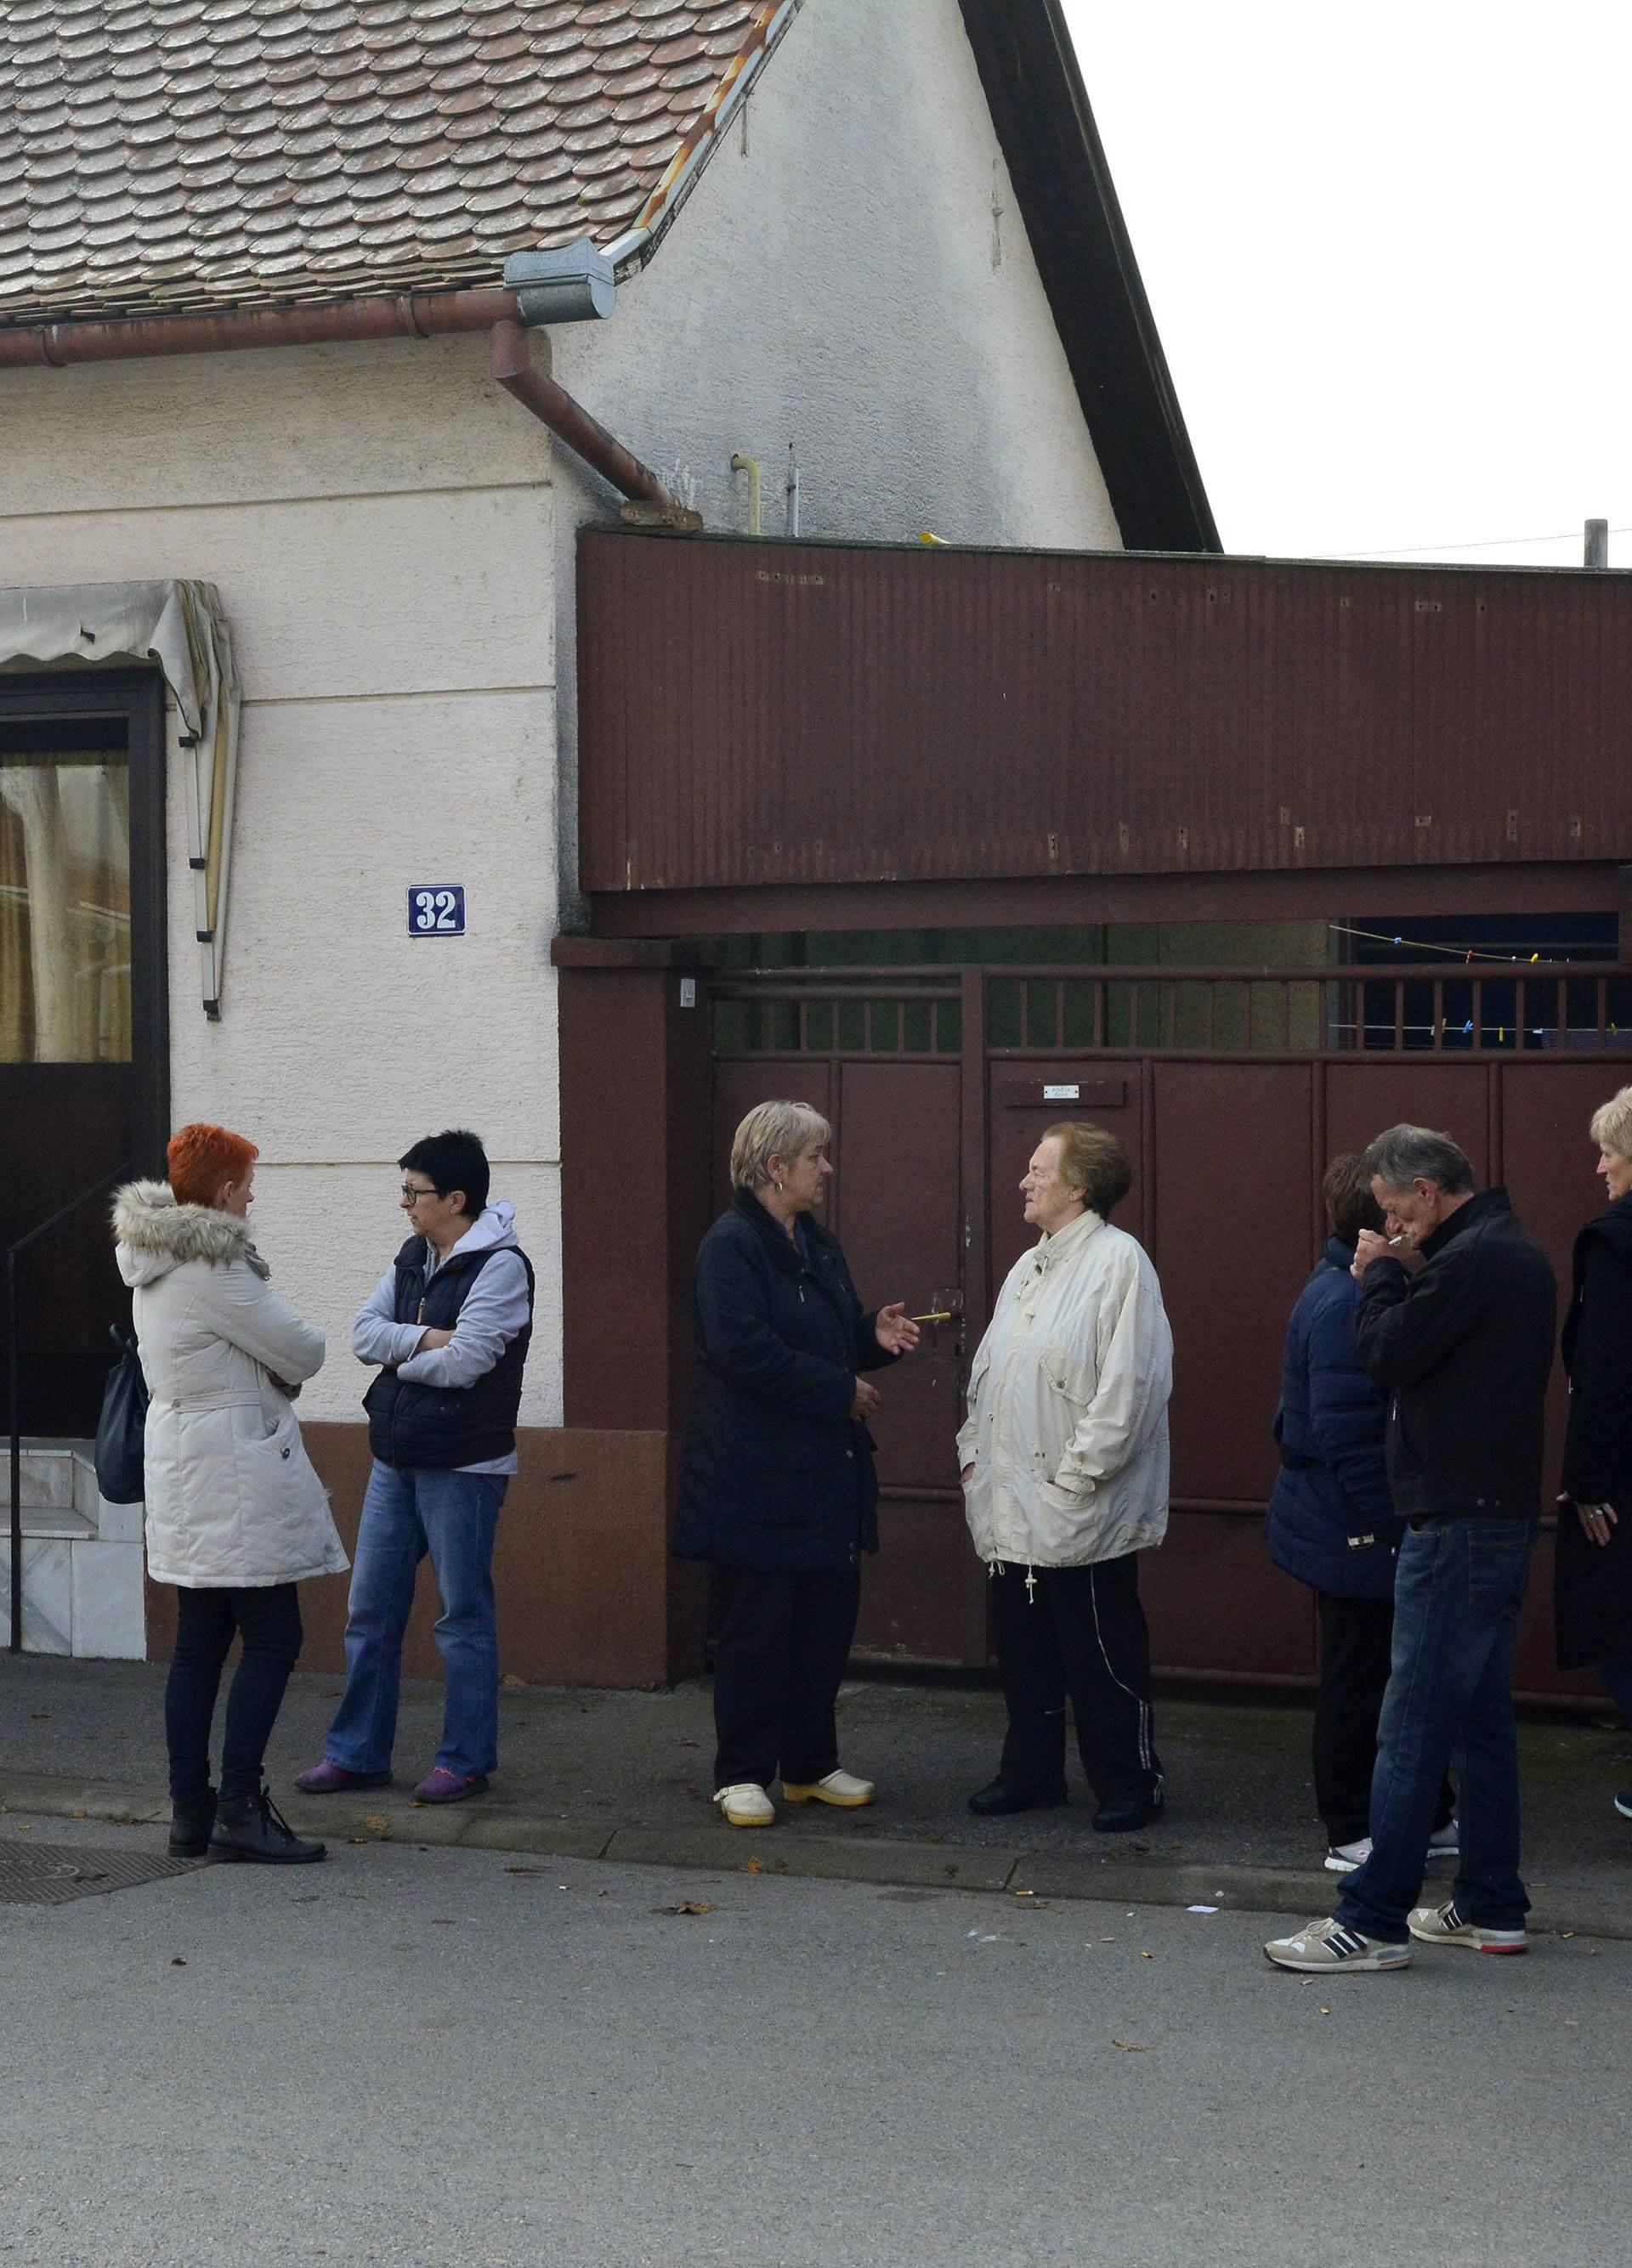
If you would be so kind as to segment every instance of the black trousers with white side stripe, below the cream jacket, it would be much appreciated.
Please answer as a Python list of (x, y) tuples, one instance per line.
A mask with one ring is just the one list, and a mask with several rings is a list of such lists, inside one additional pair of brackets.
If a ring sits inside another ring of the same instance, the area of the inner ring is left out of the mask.
[(1162, 1787), (1151, 1717), (1151, 1633), (1139, 1560), (1096, 1567), (1015, 1567), (987, 1583), (996, 1674), (1008, 1703), (1003, 1780), (1040, 1794), (1065, 1783), (1065, 1703), (1101, 1803), (1149, 1801)]

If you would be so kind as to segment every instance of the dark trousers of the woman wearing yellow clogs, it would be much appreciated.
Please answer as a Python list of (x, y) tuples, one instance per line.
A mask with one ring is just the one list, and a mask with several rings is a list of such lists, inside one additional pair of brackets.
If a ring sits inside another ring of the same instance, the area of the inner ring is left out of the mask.
[(856, 1637), (860, 1567), (760, 1574), (720, 1567), (715, 1787), (781, 1771), (824, 1780), (838, 1765), (833, 1708)]

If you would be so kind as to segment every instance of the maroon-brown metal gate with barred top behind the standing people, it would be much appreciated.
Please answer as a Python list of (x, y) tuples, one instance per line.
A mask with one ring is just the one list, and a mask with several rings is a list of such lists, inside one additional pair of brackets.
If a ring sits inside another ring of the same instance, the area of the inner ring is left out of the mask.
[[(1303, 1685), (1310, 1594), (1267, 1560), (1269, 1422), (1287, 1313), (1323, 1238), (1319, 1184), (1382, 1127), (1444, 1127), (1503, 1182), (1568, 1284), (1600, 1204), (1587, 1120), (1632, 1080), (1621, 968), (794, 968), (717, 978), (713, 1157), (772, 1093), (835, 1129), (831, 1222), (867, 1300), (962, 1304), (885, 1383), (883, 1551), (858, 1649), (983, 1665), (953, 1433), (996, 1286), (1030, 1241), (1015, 1184), (1053, 1118), (1121, 1136), (1119, 1222), (1162, 1277), (1173, 1322), (1173, 1520), (1146, 1569), (1171, 1674)], [(1555, 1461), (1564, 1386), (1553, 1383)], [(1532, 1694), (1562, 1678), (1550, 1545), (1519, 1649)]]

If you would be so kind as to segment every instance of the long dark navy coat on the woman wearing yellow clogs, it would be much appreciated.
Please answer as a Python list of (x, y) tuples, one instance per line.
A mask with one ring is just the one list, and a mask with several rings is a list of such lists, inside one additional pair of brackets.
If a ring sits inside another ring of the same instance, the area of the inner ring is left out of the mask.
[(894, 1356), (838, 1238), (804, 1227), (808, 1259), (742, 1191), (697, 1254), (681, 1558), (815, 1572), (878, 1549), (874, 1440), (849, 1411), (856, 1372)]

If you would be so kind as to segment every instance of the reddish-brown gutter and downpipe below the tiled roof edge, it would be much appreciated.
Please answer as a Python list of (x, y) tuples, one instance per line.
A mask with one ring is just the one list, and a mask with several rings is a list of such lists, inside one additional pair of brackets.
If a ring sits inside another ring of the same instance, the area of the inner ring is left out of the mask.
[(533, 367), (513, 290), (404, 293), (327, 306), (238, 308), (225, 315), (145, 315), (129, 322), (48, 322), (0, 329), (0, 370), (70, 370), (75, 363), (150, 361), (166, 354), (241, 354), (336, 340), (447, 338), (490, 331), (493, 376), (549, 431), (631, 501), (681, 510), (658, 476), (581, 401)]

